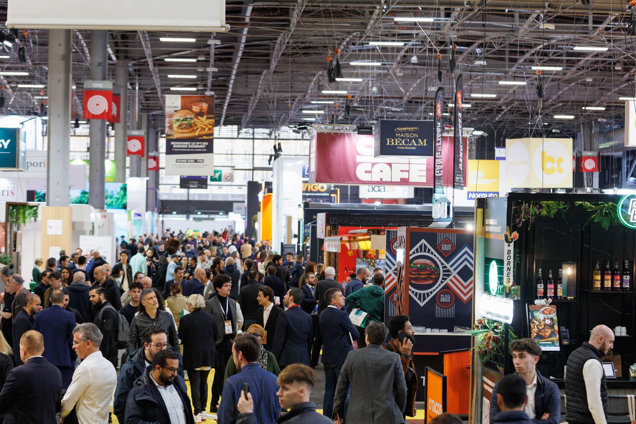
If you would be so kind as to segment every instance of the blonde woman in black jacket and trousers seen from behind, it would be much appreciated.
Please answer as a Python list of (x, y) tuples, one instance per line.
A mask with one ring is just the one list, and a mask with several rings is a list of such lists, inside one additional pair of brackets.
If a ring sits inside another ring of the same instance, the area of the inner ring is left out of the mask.
[(205, 416), (207, 376), (216, 366), (216, 340), (219, 330), (216, 318), (204, 313), (205, 301), (200, 294), (188, 297), (188, 310), (179, 322), (179, 339), (183, 343), (183, 367), (188, 371), (195, 423)]

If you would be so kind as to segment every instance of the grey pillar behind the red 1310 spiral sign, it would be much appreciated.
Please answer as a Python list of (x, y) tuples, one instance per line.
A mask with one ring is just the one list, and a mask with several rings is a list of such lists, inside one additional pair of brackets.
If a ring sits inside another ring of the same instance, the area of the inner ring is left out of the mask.
[[(94, 81), (106, 79), (107, 40), (108, 31), (93, 30), (90, 41), (90, 78)], [(106, 160), (106, 120), (90, 120), (89, 177), (88, 204), (95, 209), (104, 209), (104, 182), (106, 174), (104, 160)]]

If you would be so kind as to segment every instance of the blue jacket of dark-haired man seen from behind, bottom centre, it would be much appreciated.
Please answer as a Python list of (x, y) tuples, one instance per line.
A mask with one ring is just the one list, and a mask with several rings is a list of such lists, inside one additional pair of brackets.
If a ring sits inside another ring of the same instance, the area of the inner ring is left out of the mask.
[(276, 383), (276, 376), (261, 369), (256, 362), (245, 365), (239, 374), (235, 374), (225, 381), (217, 422), (219, 424), (237, 422), (239, 416), (237, 402), (239, 402), (243, 383), (249, 384), (249, 392), (252, 393), (252, 400), (254, 400), (256, 422), (274, 424), (280, 416), (280, 404), (276, 397), (279, 386)]

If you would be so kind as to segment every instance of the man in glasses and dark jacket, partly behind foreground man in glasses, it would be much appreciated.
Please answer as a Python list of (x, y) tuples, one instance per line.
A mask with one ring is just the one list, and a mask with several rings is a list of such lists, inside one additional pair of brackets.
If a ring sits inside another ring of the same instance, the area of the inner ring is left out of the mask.
[(132, 390), (133, 383), (144, 373), (144, 369), (153, 363), (156, 353), (170, 348), (165, 330), (158, 325), (148, 327), (144, 331), (142, 339), (144, 346), (135, 350), (128, 357), (126, 363), (121, 366), (120, 376), (117, 380), (113, 413), (120, 423), (125, 421), (126, 399), (128, 398), (128, 393)]

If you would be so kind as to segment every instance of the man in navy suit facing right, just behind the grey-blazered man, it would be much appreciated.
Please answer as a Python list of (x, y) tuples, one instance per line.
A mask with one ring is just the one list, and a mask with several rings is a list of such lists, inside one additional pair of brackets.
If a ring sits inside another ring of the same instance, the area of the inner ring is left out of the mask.
[[(349, 315), (342, 310), (345, 306), (345, 296), (338, 287), (329, 289), (324, 295), (329, 301), (329, 306), (320, 315), (320, 327), (322, 334), (322, 365), (324, 366), (324, 400), (322, 401), (322, 414), (331, 418), (333, 412), (333, 395), (336, 393), (336, 385), (340, 376), (342, 364), (347, 359), (347, 354), (354, 350), (353, 339), (360, 334), (356, 326), (352, 324)], [(348, 399), (345, 399), (345, 405)]]

